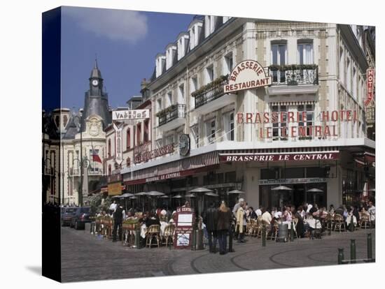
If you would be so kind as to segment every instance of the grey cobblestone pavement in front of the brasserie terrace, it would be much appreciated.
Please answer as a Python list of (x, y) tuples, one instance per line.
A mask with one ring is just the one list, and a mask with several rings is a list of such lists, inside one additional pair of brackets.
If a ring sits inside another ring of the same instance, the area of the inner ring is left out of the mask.
[(276, 243), (249, 237), (244, 244), (234, 243), (235, 252), (226, 255), (166, 247), (130, 249), (120, 242), (99, 239), (85, 230), (62, 228), (62, 281), (90, 281), (148, 276), (235, 272), (254, 269), (337, 265), (337, 249), (350, 257), (350, 239), (356, 239), (356, 258), (367, 258), (367, 233), (332, 232), (322, 239), (295, 239)]

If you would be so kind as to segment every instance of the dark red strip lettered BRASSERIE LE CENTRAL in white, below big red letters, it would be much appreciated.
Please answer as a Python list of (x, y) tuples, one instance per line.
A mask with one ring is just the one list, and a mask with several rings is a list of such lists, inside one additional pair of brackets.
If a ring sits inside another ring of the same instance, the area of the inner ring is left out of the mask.
[(222, 163), (230, 161), (329, 161), (337, 160), (339, 153), (297, 153), (297, 154), (219, 154)]

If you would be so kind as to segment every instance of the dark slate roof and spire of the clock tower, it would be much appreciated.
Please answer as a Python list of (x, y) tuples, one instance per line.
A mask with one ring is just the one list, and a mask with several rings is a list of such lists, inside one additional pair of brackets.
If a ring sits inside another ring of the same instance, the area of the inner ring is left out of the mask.
[(97, 114), (103, 119), (103, 129), (111, 124), (111, 113), (109, 111), (109, 96), (103, 91), (103, 78), (97, 67), (95, 59), (94, 68), (92, 68), (90, 89), (85, 91), (85, 102), (82, 114), (83, 131), (85, 130), (85, 119), (92, 114)]

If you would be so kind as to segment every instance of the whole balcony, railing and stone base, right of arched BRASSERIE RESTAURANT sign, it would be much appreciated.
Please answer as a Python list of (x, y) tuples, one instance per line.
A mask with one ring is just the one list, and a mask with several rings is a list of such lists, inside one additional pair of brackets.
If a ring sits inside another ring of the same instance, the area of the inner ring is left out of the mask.
[(267, 67), (267, 74), (272, 77), (269, 94), (281, 94), (283, 91), (314, 94), (318, 90), (318, 65), (316, 64), (273, 64)]

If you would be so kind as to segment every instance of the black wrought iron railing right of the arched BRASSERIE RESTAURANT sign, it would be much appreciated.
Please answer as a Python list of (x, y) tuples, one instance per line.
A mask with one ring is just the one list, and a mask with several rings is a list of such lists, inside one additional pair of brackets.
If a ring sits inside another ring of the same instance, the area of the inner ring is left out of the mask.
[(268, 68), (273, 85), (318, 84), (318, 65), (271, 65)]

